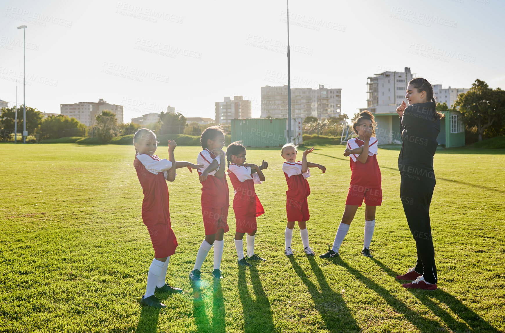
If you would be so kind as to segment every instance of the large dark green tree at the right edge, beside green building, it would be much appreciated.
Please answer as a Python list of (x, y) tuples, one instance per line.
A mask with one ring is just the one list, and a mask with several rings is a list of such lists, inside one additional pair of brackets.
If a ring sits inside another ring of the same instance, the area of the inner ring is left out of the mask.
[(462, 93), (454, 105), (459, 106), (463, 121), (467, 127), (477, 127), (479, 141), (484, 133), (502, 133), (505, 116), (505, 95), (503, 90), (492, 90), (487, 83), (479, 79), (472, 83), (472, 88)]

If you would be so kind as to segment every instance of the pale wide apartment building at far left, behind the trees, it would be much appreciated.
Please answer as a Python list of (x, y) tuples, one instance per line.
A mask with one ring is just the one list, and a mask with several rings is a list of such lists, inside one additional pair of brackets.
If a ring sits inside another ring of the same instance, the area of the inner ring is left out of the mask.
[(60, 104), (60, 113), (65, 116), (73, 117), (86, 126), (92, 126), (96, 123), (96, 115), (103, 110), (109, 110), (116, 114), (118, 124), (123, 123), (123, 105), (109, 104), (103, 98), (98, 102), (79, 102), (74, 104)]

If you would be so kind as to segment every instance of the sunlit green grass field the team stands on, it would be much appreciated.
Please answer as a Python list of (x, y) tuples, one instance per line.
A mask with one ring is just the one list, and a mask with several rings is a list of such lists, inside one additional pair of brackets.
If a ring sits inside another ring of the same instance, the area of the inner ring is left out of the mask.
[[(317, 147), (309, 160), (327, 167), (309, 179), (309, 237), (317, 254), (333, 242), (350, 178), (342, 146)], [(177, 147), (195, 161), (198, 147)], [(204, 238), (197, 174), (169, 183), (179, 247), (167, 281), (183, 294), (158, 294), (167, 308), (142, 308), (154, 251), (142, 224), (142, 191), (132, 146), (0, 145), (0, 331), (340, 332), (505, 331), (505, 150), (437, 150), (431, 220), (438, 264), (433, 292), (394, 279), (416, 259), (399, 200), (397, 147), (379, 149), (384, 201), (371, 248), (360, 254), (364, 208), (340, 258), (284, 256), (285, 190), (278, 149), (248, 149), (269, 161), (256, 187), (256, 252), (268, 261), (238, 269), (230, 209), (225, 278), (193, 291), (188, 273)], [(160, 157), (168, 157), (165, 147)], [(299, 156), (301, 157), (301, 155)], [(230, 184), (231, 186), (231, 184)], [(233, 193), (233, 191), (231, 191)], [(231, 200), (232, 201), (232, 198)], [(245, 243), (245, 241), (244, 241)], [(301, 251), (297, 227), (294, 249)], [(202, 271), (212, 270), (212, 250)], [(194, 299), (200, 293), (201, 300)]]

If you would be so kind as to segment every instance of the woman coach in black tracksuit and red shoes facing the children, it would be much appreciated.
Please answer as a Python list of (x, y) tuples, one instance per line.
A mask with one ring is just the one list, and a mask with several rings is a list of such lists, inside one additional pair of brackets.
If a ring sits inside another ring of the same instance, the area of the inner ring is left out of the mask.
[[(400, 198), (412, 236), (416, 241), (417, 264), (400, 280), (414, 280), (406, 288), (434, 290), (437, 288), (435, 250), (431, 236), (430, 203), (435, 188), (433, 155), (440, 133), (440, 118), (435, 110), (431, 84), (423, 78), (409, 82), (405, 102), (396, 112), (400, 116), (401, 151), (398, 156)], [(407, 106), (407, 107), (406, 107)]]

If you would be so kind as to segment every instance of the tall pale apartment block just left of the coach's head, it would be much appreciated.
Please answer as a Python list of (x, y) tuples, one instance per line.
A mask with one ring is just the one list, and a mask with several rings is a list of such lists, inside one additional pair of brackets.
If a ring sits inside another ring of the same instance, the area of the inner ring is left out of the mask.
[(396, 109), (395, 105), (406, 101), (405, 95), (407, 84), (412, 80), (409, 67), (403, 72), (382, 72), (368, 77), (367, 108), (371, 113), (391, 113)]

